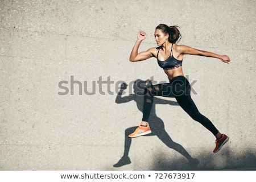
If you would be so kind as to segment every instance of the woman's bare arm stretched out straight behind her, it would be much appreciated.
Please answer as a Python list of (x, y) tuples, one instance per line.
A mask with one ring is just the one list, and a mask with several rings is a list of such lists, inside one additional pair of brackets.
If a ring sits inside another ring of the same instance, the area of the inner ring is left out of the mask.
[(230, 59), (227, 55), (218, 55), (217, 53), (208, 52), (208, 51), (202, 51), (199, 49), (195, 49), (188, 46), (177, 46), (177, 51), (180, 52), (180, 54), (183, 55), (198, 55), (198, 56), (205, 56), (205, 57), (215, 57), (223, 61), (224, 63), (230, 62)]

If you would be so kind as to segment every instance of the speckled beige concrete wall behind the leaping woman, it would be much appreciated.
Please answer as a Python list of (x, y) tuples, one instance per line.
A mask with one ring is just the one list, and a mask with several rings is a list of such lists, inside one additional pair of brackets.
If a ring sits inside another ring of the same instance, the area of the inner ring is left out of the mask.
[[(256, 167), (255, 7), (253, 0), (1, 0), (0, 169)], [(230, 137), (217, 154), (214, 136), (172, 98), (156, 98), (152, 109), (162, 140), (127, 138), (142, 118), (143, 97), (129, 96), (134, 81), (167, 81), (155, 59), (129, 62), (138, 31), (148, 34), (141, 51), (156, 47), (160, 23), (180, 26), (180, 44), (232, 60), (183, 62), (200, 112)], [(118, 97), (121, 82), (129, 86)], [(131, 163), (113, 167), (124, 149)]]

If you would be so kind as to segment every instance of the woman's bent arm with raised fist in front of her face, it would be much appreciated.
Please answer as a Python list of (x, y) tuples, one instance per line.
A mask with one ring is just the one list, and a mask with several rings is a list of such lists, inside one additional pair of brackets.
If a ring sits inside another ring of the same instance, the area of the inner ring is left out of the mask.
[(138, 33), (138, 39), (133, 47), (133, 50), (131, 51), (131, 55), (129, 59), (131, 62), (146, 60), (153, 56), (151, 53), (152, 48), (148, 49), (147, 51), (138, 53), (139, 46), (141, 45), (142, 40), (146, 38), (146, 36), (147, 36), (146, 32), (140, 31)]

